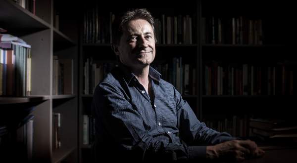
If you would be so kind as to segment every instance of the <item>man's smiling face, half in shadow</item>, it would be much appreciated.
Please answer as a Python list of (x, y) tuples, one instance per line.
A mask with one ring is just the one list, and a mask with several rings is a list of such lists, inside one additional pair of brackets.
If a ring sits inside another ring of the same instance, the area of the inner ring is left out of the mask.
[(133, 70), (148, 66), (155, 57), (155, 39), (148, 21), (136, 19), (128, 22), (115, 53), (124, 65)]

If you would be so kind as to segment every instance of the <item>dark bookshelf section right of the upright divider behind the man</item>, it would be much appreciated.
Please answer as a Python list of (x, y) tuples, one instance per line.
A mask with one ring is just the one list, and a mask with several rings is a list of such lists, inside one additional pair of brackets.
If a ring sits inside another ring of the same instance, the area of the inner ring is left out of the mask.
[(239, 128), (233, 135), (250, 137), (258, 136), (249, 127), (250, 118), (293, 118), (297, 64), (290, 53), (296, 52), (297, 33), (291, 5), (200, 2), (201, 116), (206, 124), (227, 119)]

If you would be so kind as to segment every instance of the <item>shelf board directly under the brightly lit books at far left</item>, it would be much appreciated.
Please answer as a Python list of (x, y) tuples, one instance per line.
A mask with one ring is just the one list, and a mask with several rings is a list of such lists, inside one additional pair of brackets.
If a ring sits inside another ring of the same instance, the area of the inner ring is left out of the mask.
[(49, 96), (0, 97), (0, 105), (35, 103), (49, 100)]

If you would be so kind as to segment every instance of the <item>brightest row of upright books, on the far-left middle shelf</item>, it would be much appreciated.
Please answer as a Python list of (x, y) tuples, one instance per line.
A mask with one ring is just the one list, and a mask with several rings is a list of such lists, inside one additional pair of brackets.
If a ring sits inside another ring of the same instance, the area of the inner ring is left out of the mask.
[(30, 94), (31, 45), (18, 37), (0, 34), (0, 95)]

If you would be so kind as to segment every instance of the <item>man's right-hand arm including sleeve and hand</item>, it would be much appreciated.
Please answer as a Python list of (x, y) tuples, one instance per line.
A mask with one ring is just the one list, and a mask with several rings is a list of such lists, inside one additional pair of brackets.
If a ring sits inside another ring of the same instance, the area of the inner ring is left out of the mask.
[(264, 151), (250, 140), (239, 140), (227, 132), (215, 131), (199, 122), (189, 104), (182, 99), (178, 91), (175, 92), (181, 138), (190, 146), (190, 157), (201, 158), (205, 150), (206, 159), (240, 162), (264, 154)]

